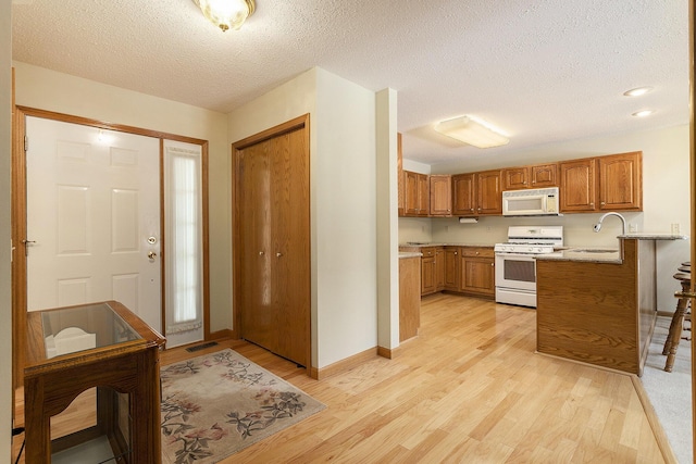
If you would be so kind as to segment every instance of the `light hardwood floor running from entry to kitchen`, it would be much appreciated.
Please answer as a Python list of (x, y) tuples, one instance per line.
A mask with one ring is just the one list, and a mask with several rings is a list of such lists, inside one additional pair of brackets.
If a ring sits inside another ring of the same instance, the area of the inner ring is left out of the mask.
[(169, 350), (162, 364), (226, 347), (328, 407), (225, 464), (666, 462), (635, 378), (535, 354), (533, 310), (427, 297), (393, 360), (323, 380), (243, 341)]

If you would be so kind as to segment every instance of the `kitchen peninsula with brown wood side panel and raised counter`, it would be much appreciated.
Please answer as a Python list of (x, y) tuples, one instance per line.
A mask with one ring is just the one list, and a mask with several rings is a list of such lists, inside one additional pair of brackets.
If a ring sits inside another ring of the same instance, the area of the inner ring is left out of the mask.
[(537, 256), (537, 351), (642, 375), (657, 318), (656, 240), (686, 238), (623, 235), (617, 251)]

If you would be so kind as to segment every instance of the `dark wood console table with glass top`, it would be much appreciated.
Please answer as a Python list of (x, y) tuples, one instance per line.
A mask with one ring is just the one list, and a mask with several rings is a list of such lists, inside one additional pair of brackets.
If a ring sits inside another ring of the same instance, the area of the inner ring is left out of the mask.
[[(50, 463), (52, 453), (103, 436), (115, 462), (160, 463), (164, 338), (116, 301), (29, 312), (27, 329), (26, 463)], [(51, 416), (92, 387), (97, 425), (51, 440)]]

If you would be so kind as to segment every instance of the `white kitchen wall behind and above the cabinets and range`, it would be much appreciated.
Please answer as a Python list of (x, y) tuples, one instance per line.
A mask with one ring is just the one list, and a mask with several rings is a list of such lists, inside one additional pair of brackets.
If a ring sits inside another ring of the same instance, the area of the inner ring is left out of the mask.
[[(671, 224), (680, 224), (682, 234), (689, 234), (689, 156), (688, 126), (618, 134), (605, 137), (550, 143), (515, 153), (518, 165), (560, 161), (576, 158), (643, 151), (643, 212), (623, 214), (638, 231), (670, 233)], [(502, 167), (490, 165), (473, 171)], [(432, 166), (433, 174), (471, 172), (465, 163), (449, 163)], [(459, 224), (456, 218), (399, 221), (399, 242), (473, 242), (493, 244), (506, 241), (510, 225), (562, 225), (567, 246), (602, 246), (617, 243), (621, 222), (609, 217), (601, 231), (596, 234), (592, 225), (600, 214), (567, 214), (562, 217), (504, 218), (482, 217), (478, 224)], [(426, 222), (431, 223), (430, 235)], [(425, 240), (425, 238), (427, 240)], [(682, 261), (689, 258), (691, 240), (658, 242), (658, 309), (673, 311), (675, 285), (672, 274)]]

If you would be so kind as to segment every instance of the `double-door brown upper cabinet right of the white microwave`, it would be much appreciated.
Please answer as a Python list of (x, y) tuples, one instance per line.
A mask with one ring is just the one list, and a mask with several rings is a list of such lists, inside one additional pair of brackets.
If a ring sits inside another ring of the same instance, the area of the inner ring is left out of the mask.
[(561, 162), (561, 213), (641, 211), (642, 163), (639, 151)]

